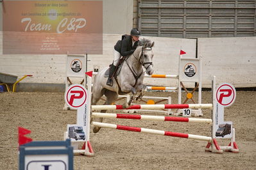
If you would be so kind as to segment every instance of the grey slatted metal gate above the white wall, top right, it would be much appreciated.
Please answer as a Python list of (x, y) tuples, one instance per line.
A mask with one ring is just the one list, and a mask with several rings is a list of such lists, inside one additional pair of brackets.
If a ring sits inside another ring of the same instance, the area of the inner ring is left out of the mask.
[(256, 36), (255, 0), (138, 0), (137, 14), (144, 36)]

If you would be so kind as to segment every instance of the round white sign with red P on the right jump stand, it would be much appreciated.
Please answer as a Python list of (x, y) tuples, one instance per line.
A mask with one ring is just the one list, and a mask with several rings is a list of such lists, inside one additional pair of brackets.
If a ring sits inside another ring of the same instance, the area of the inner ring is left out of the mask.
[(228, 107), (235, 102), (236, 91), (232, 84), (220, 84), (216, 91), (216, 99), (219, 104)]

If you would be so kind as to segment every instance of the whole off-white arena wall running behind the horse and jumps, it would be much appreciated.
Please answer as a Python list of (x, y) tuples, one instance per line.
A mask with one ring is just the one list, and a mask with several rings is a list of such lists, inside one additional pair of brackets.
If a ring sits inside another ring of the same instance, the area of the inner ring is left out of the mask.
[[(104, 34), (103, 55), (89, 54), (88, 70), (99, 68), (100, 71), (112, 63), (113, 47), (120, 38), (121, 35)], [(187, 52), (184, 57), (196, 58), (195, 39), (144, 38), (155, 42), (155, 73), (178, 74), (180, 49)], [(24, 79), (17, 87), (18, 90), (21, 87), (23, 90), (42, 90), (49, 84), (55, 84), (53, 89), (61, 87), (64, 90), (65, 55), (3, 55), (2, 49), (0, 52), (0, 72), (18, 75), (19, 78), (25, 74), (33, 75), (33, 78)], [(203, 88), (210, 88), (212, 75), (218, 77), (218, 82), (230, 82), (237, 88), (256, 86), (256, 37), (198, 38), (198, 57), (202, 58), (203, 63)], [(154, 86), (177, 85), (177, 81), (171, 79), (150, 79), (145, 83)], [(49, 87), (46, 89), (50, 91)]]

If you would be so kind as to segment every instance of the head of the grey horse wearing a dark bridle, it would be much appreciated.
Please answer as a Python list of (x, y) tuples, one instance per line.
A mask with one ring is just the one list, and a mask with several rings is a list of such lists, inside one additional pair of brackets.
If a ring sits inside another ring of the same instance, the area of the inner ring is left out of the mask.
[(154, 42), (150, 42), (149, 40), (142, 39), (139, 42), (139, 45), (142, 46), (141, 52), (140, 52), (140, 58), (139, 61), (141, 62), (141, 65), (146, 68), (146, 73), (148, 75), (153, 74), (153, 50), (152, 47), (154, 46)]

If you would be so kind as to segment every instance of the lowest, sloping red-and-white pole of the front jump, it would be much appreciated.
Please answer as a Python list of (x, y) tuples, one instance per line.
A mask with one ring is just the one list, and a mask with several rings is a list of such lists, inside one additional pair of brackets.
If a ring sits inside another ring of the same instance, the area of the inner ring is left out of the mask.
[(118, 130), (128, 130), (133, 132), (143, 132), (146, 134), (157, 134), (157, 135), (169, 135), (173, 137), (182, 137), (187, 139), (195, 139), (200, 141), (211, 141), (212, 137), (207, 137), (203, 135), (192, 135), (192, 134), (183, 134), (183, 133), (177, 133), (177, 132), (169, 132), (164, 130), (155, 130), (155, 129), (149, 129), (149, 128), (139, 128), (139, 127), (127, 127), (123, 125), (114, 125), (110, 123), (99, 123), (92, 121), (92, 125), (96, 127), (103, 127), (103, 128), (114, 128)]

